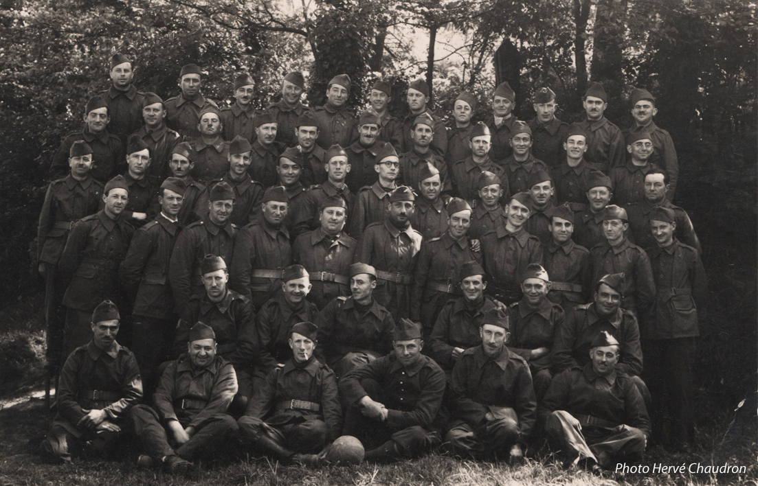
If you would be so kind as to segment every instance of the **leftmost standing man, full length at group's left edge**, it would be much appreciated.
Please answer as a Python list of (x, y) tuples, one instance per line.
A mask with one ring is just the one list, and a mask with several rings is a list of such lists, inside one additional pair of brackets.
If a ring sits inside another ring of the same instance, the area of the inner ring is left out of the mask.
[(58, 262), (74, 223), (96, 213), (102, 206), (103, 186), (90, 175), (92, 148), (87, 142), (79, 140), (71, 145), (68, 153), (70, 173), (62, 179), (50, 182), (37, 226), (39, 275), (45, 279), (45, 366), (52, 374), (58, 372), (65, 359), (61, 356), (61, 346), (66, 320), (66, 309), (63, 306), (66, 282), (61, 276)]

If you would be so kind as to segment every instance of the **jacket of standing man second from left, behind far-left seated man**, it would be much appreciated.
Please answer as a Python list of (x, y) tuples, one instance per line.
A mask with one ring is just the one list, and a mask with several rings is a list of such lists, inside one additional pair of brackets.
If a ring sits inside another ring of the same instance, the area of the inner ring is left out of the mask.
[(118, 265), (127, 255), (133, 234), (133, 226), (123, 216), (111, 220), (105, 210), (74, 224), (58, 263), (64, 279), (70, 279), (64, 306), (92, 312), (106, 299), (121, 303)]

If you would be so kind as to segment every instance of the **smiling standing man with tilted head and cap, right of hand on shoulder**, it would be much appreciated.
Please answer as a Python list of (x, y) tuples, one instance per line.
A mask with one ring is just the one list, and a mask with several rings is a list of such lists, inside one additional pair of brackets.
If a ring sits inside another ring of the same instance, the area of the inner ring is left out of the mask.
[(482, 266), (490, 276), (490, 295), (505, 304), (522, 298), (521, 282), (529, 263), (543, 262), (542, 244), (524, 229), (531, 196), (519, 192), (506, 207), (506, 224), (481, 237)]

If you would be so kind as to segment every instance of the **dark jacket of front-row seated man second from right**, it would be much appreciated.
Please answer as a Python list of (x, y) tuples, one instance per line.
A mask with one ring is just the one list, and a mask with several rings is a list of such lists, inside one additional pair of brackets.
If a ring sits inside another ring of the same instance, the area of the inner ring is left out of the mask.
[(537, 412), (531, 372), (524, 358), (512, 353), (508, 347), (503, 346), (500, 355), (494, 359), (484, 354), (481, 344), (463, 351), (453, 368), (451, 388), (451, 427), (460, 423), (478, 427), (487, 412), (509, 407), (518, 416), (521, 437), (526, 438), (531, 432)]

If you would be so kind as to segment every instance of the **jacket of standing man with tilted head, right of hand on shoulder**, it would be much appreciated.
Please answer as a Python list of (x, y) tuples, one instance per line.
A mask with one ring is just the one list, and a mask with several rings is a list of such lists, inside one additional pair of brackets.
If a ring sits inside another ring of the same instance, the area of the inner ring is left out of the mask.
[(520, 291), (529, 263), (543, 263), (540, 240), (523, 228), (512, 233), (505, 225), (498, 226), (480, 241), (484, 271), (490, 278), (490, 292), (496, 292), (497, 288)]

